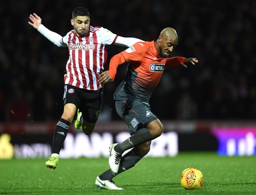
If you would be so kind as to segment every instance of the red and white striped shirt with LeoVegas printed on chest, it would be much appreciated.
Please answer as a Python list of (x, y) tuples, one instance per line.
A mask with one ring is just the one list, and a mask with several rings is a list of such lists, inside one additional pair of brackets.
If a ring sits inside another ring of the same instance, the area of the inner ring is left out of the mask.
[(68, 32), (62, 38), (69, 51), (65, 84), (86, 90), (99, 90), (99, 74), (108, 56), (106, 45), (115, 43), (116, 38), (117, 35), (104, 27), (90, 26), (84, 37), (77, 36), (75, 30)]

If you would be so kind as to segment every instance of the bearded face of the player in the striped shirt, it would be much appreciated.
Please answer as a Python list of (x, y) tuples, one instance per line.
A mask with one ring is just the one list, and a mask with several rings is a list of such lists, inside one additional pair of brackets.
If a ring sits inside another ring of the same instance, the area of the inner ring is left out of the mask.
[(79, 36), (85, 36), (90, 27), (90, 18), (87, 16), (77, 16), (76, 19), (71, 19), (71, 24)]

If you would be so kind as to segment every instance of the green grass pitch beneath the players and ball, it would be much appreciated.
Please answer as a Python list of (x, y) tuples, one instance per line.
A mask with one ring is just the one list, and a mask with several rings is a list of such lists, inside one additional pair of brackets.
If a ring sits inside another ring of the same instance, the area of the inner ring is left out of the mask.
[[(95, 187), (95, 178), (108, 169), (108, 159), (60, 159), (55, 170), (47, 159), (0, 160), (0, 194), (256, 194), (256, 157), (220, 157), (216, 153), (179, 153), (176, 157), (144, 158), (114, 178), (124, 191)], [(204, 185), (180, 186), (180, 173), (200, 169)]]

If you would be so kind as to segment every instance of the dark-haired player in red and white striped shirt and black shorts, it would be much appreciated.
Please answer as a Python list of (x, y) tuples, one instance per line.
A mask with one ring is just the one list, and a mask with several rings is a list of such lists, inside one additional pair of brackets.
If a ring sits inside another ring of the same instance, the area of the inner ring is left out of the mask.
[(52, 155), (45, 162), (47, 168), (55, 169), (68, 128), (76, 113), (76, 129), (82, 127), (83, 132), (90, 135), (95, 127), (102, 104), (102, 85), (99, 83), (99, 74), (107, 60), (106, 45), (130, 47), (141, 40), (115, 35), (104, 27), (90, 26), (90, 13), (83, 7), (73, 10), (71, 25), (74, 29), (65, 36), (47, 29), (36, 13), (29, 15), (29, 19), (28, 24), (58, 47), (68, 47), (69, 52), (64, 76), (63, 114), (54, 130)]

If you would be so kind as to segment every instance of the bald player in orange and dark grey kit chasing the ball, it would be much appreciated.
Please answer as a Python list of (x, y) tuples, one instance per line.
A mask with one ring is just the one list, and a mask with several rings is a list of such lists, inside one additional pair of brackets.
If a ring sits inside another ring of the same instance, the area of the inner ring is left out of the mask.
[[(150, 97), (164, 70), (176, 65), (187, 68), (186, 63), (195, 65), (198, 62), (196, 58), (169, 58), (177, 45), (178, 35), (175, 29), (166, 27), (157, 40), (135, 43), (113, 56), (109, 70), (100, 74), (100, 84), (113, 81), (118, 65), (129, 62), (124, 81), (116, 88), (114, 99), (116, 112), (127, 123), (131, 137), (110, 146), (110, 169), (97, 176), (97, 187), (122, 189), (109, 183), (113, 183), (112, 179), (116, 175), (135, 166), (149, 152), (151, 141), (161, 136), (163, 125), (150, 109)], [(122, 155), (129, 149), (129, 152)]]

